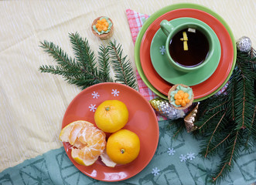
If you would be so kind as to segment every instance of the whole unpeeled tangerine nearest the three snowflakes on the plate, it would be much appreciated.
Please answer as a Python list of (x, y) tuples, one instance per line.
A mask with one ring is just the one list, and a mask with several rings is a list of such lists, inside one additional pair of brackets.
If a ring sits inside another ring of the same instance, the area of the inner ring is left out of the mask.
[(106, 133), (121, 130), (128, 122), (127, 106), (119, 100), (106, 100), (97, 106), (94, 121)]

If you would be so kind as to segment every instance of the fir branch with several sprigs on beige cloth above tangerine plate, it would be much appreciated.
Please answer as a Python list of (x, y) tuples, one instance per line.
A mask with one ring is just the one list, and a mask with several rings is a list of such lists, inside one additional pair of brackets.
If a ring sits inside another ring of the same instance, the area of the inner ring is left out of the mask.
[[(63, 76), (70, 84), (85, 89), (101, 82), (114, 82), (111, 78), (111, 63), (114, 66), (114, 77), (116, 82), (121, 82), (131, 88), (138, 89), (136, 85), (135, 73), (133, 72), (130, 61), (122, 56), (121, 45), (109, 42), (108, 46), (100, 45), (98, 60), (94, 52), (90, 49), (88, 40), (83, 39), (76, 33), (69, 34), (72, 45), (74, 59), (67, 55), (58, 45), (53, 42), (40, 42), (40, 47), (44, 52), (53, 56), (57, 66), (39, 66), (41, 72), (49, 72), (54, 75)], [(110, 57), (109, 54), (112, 54)], [(121, 70), (120, 70), (121, 69)]]

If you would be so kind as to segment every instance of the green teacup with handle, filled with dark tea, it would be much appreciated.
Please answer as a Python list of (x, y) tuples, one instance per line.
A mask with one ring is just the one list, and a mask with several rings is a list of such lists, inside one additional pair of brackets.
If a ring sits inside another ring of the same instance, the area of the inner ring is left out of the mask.
[(162, 32), (167, 36), (166, 54), (169, 62), (181, 72), (201, 69), (213, 56), (214, 32), (209, 31), (209, 25), (193, 22), (193, 19), (176, 26), (167, 20), (160, 23)]

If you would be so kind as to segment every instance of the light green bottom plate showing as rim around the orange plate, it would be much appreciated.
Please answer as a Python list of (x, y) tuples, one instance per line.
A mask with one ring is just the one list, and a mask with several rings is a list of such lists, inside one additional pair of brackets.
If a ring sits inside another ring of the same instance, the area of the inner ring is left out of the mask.
[(203, 5), (193, 4), (193, 3), (179, 3), (179, 4), (166, 6), (165, 8), (161, 8), (161, 9), (159, 9), (159, 11), (150, 15), (150, 17), (142, 25), (142, 29), (140, 30), (140, 32), (138, 32), (138, 35), (137, 35), (137, 39), (136, 39), (136, 42), (135, 42), (135, 65), (137, 67), (138, 73), (141, 76), (143, 82), (145, 82), (145, 85), (148, 86), (148, 88), (151, 89), (152, 92), (154, 92), (157, 96), (161, 97), (162, 99), (167, 99), (167, 96), (165, 96), (164, 94), (160, 93), (157, 89), (155, 89), (155, 87), (152, 86), (152, 84), (150, 82), (148, 82), (148, 79), (145, 77), (145, 74), (142, 70), (142, 66), (141, 66), (141, 62), (140, 62), (140, 53), (139, 53), (139, 51), (140, 51), (140, 46), (141, 46), (143, 35), (145, 34), (145, 31), (148, 29), (148, 26), (152, 22), (154, 22), (156, 18), (159, 18), (159, 16), (165, 14), (166, 12), (170, 12), (172, 10), (179, 9), (179, 8), (194, 8), (194, 9), (198, 9), (198, 10), (207, 12), (210, 15), (213, 15), (215, 18), (217, 18), (225, 26), (225, 28), (227, 29), (227, 32), (230, 35), (232, 43), (233, 43), (234, 62), (232, 64), (230, 74), (227, 76), (227, 79), (224, 81), (224, 83), (218, 89), (216, 89), (213, 93), (210, 93), (209, 95), (204, 96), (200, 99), (195, 99), (194, 100), (194, 102), (198, 102), (198, 101), (202, 101), (203, 99), (207, 99), (210, 96), (213, 96), (213, 94), (217, 93), (227, 83), (228, 79), (230, 79), (230, 76), (232, 74), (232, 71), (234, 69), (236, 59), (237, 59), (237, 46), (236, 46), (236, 42), (235, 42), (235, 39), (234, 39), (233, 32), (231, 31), (229, 25), (227, 25), (227, 22), (224, 21), (224, 18), (222, 18), (216, 12), (213, 12), (212, 10), (210, 10), (210, 8), (207, 8)]

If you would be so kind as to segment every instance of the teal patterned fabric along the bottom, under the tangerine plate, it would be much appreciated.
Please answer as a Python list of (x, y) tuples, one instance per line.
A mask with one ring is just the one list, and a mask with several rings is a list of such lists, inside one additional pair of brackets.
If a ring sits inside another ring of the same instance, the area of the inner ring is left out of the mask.
[[(50, 150), (34, 159), (26, 160), (0, 173), (0, 184), (212, 184), (211, 173), (218, 158), (210, 160), (199, 156), (200, 142), (190, 133), (172, 138), (168, 121), (159, 121), (159, 145), (151, 162), (142, 172), (128, 180), (103, 182), (81, 173), (71, 163), (63, 147)], [(220, 154), (221, 155), (221, 154)], [(221, 185), (249, 185), (256, 181), (256, 149), (241, 153), (233, 170)]]

